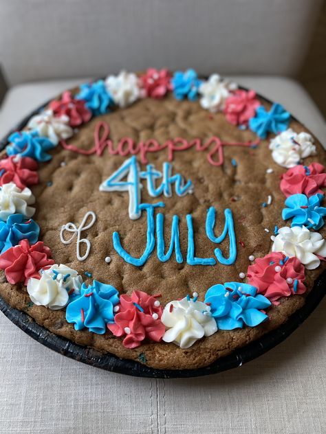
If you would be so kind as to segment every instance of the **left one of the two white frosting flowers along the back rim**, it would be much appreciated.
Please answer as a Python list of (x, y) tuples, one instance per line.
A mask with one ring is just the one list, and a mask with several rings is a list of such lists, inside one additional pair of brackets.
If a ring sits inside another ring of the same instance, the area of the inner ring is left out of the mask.
[(138, 77), (134, 73), (121, 71), (118, 76), (109, 76), (105, 80), (107, 91), (113, 101), (124, 109), (140, 98)]

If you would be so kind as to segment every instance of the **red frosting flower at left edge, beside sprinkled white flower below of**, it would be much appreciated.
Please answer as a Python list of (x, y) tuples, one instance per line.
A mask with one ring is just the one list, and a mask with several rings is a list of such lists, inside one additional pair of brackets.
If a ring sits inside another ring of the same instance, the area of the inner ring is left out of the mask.
[(10, 284), (28, 282), (30, 277), (40, 278), (39, 270), (54, 264), (51, 251), (42, 241), (30, 246), (28, 240), (21, 240), (0, 255), (0, 269), (6, 273)]

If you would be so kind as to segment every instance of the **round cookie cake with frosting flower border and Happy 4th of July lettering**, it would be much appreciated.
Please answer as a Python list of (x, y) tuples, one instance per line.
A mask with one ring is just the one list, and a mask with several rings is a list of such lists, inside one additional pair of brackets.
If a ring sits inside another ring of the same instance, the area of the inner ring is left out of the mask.
[(325, 269), (325, 150), (217, 74), (148, 69), (58, 95), (0, 160), (0, 295), (159, 369), (278, 328)]

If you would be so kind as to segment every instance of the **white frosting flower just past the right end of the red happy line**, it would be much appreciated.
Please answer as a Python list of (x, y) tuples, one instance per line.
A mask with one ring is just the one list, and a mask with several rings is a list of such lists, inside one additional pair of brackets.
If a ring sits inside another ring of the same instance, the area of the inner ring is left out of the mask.
[(308, 133), (296, 133), (288, 128), (270, 141), (274, 161), (283, 168), (293, 168), (301, 159), (316, 154), (314, 139)]

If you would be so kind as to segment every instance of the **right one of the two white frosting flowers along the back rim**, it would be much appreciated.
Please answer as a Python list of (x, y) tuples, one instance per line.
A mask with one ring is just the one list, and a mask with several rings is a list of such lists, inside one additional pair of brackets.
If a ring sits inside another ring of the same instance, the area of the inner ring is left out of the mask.
[(202, 82), (199, 86), (200, 105), (213, 113), (224, 109), (224, 102), (230, 91), (235, 91), (237, 84), (222, 80), (218, 74), (211, 75), (207, 81)]

